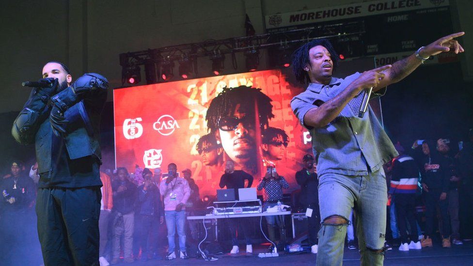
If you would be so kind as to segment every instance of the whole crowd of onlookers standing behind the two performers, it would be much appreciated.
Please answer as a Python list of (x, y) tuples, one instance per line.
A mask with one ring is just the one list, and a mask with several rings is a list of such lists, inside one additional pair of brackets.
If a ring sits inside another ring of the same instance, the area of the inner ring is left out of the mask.
[[(452, 244), (462, 245), (463, 241), (471, 240), (470, 227), (464, 225), (468, 225), (473, 216), (473, 129), (469, 132), (469, 141), (461, 142), (456, 154), (452, 154), (451, 144), (447, 139), (439, 139), (416, 140), (408, 149), (399, 143), (394, 145), (399, 156), (384, 166), (388, 186), (385, 244), (388, 250), (392, 247), (401, 251), (419, 250), (434, 245), (450, 248)], [(293, 207), (308, 216), (307, 241), (311, 251), (317, 253), (317, 232), (321, 224), (317, 170), (312, 155), (303, 156), (302, 161), (303, 168), (295, 176), (300, 185), (300, 190), (295, 192), (299, 208)], [(283, 189), (289, 188), (284, 176), (271, 171), (271, 167), (268, 166), (263, 177), (257, 178), (256, 188), (262, 191), (263, 211), (282, 202)], [(3, 243), (9, 243), (10, 247), (20, 247), (37, 238), (33, 211), (37, 168), (37, 164), (27, 168), (21, 161), (14, 160), (10, 172), (1, 180)], [(224, 169), (220, 188), (252, 187), (253, 176), (235, 170), (232, 160), (225, 161)], [(130, 173), (119, 167), (106, 172), (100, 172), (103, 184), (99, 218), (101, 265), (108, 265), (109, 261), (117, 264), (121, 258), (127, 263), (137, 259), (189, 258), (186, 246), (191, 242), (197, 243), (199, 234), (196, 222), (186, 217), (194, 215), (203, 204), (191, 171), (180, 171), (180, 177), (177, 165), (171, 163), (164, 178), (160, 168), (152, 172), (136, 166)], [(356, 228), (356, 215), (356, 211), (352, 211), (348, 218), (348, 249), (357, 248), (353, 229)], [(242, 219), (245, 218), (229, 220), (232, 254), (239, 253), (238, 228), (242, 229), (246, 252), (252, 253), (252, 235), (248, 223)], [(283, 222), (280, 216), (266, 217), (266, 232), (275, 245), (284, 243), (277, 241), (276, 237), (284, 236), (281, 231), (276, 234), (277, 228), (282, 229)], [(162, 237), (165, 228), (167, 243)], [(167, 253), (164, 250), (166, 246)], [(271, 245), (269, 249), (273, 248)], [(39, 247), (36, 249), (39, 252)], [(17, 250), (19, 252), (13, 254), (22, 257), (22, 249)], [(5, 252), (1, 254), (7, 256)]]

